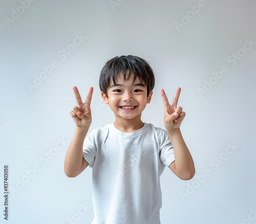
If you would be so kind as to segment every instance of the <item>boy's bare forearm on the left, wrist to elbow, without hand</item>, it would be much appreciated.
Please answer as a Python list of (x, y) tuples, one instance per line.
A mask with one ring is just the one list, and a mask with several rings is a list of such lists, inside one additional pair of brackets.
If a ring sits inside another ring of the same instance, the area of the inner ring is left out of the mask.
[(68, 177), (75, 177), (79, 173), (82, 166), (82, 146), (84, 138), (88, 133), (88, 128), (76, 127), (73, 139), (68, 147), (65, 162), (64, 171)]

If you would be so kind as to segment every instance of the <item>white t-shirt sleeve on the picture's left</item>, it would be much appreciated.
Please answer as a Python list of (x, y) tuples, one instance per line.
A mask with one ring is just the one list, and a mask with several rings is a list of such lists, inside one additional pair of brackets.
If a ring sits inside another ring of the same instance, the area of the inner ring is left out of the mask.
[(82, 156), (93, 167), (96, 155), (96, 133), (92, 130), (83, 141)]

